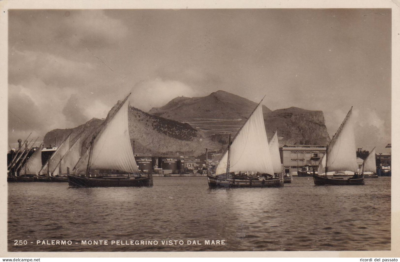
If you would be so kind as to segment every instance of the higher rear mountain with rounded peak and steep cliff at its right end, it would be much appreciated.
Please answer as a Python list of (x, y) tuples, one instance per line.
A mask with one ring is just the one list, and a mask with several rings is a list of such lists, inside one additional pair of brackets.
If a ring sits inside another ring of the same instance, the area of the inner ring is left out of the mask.
[[(152, 108), (149, 113), (186, 122), (214, 142), (226, 144), (228, 132), (233, 135), (246, 122), (257, 103), (225, 91), (217, 91), (205, 97), (177, 97), (160, 108)], [(271, 111), (262, 106), (267, 135), (275, 130), (284, 144), (327, 144), (322, 111), (311, 111), (291, 107)]]

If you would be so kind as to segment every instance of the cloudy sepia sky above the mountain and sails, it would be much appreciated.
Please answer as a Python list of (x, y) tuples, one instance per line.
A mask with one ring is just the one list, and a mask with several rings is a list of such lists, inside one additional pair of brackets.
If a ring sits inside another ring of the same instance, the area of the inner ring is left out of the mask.
[[(356, 146), (391, 143), (390, 9), (9, 10), (8, 145), (217, 90), (271, 110), (353, 106)], [(14, 144), (14, 145), (12, 145)], [(10, 148), (8, 148), (10, 149)]]

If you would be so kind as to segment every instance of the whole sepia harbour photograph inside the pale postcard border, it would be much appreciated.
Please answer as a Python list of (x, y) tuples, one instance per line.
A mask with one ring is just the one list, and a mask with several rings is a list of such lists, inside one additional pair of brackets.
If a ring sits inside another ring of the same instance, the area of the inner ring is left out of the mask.
[(8, 9), (5, 249), (392, 250), (392, 15)]

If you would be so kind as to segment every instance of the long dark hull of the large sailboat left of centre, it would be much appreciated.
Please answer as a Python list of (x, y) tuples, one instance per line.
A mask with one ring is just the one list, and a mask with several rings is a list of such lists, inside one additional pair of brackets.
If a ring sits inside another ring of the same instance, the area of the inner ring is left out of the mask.
[(68, 176), (68, 184), (73, 187), (122, 187), (122, 186), (152, 186), (152, 177), (145, 178), (87, 178)]

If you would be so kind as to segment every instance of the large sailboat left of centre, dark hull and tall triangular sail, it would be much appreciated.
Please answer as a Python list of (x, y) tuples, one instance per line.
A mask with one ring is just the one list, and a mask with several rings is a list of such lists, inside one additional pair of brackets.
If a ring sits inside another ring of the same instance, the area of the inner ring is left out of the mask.
[[(131, 93), (130, 93), (131, 94)], [(68, 174), (70, 186), (114, 187), (114, 186), (152, 186), (152, 173), (140, 176), (136, 165), (128, 130), (128, 97), (118, 103), (102, 127), (92, 137), (90, 146), (79, 158)], [(127, 176), (96, 176), (93, 170), (120, 170)]]

